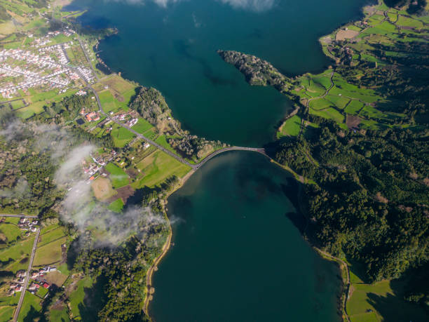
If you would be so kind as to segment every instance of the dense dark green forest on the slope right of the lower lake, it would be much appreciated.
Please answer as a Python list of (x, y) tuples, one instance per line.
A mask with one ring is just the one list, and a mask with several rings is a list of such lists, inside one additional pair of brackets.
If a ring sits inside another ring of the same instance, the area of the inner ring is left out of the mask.
[(332, 121), (278, 146), (275, 159), (306, 185), (306, 234), (322, 248), (367, 267), (372, 281), (428, 260), (427, 133), (387, 129), (345, 133)]

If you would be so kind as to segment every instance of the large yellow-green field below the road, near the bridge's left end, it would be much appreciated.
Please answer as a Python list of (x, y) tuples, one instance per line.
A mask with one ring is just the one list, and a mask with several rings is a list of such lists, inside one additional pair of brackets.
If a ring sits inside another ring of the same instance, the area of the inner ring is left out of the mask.
[(144, 186), (154, 187), (163, 182), (167, 177), (176, 175), (183, 177), (191, 170), (189, 166), (172, 158), (168, 154), (157, 150), (137, 164), (143, 173), (143, 178), (132, 184), (135, 189)]

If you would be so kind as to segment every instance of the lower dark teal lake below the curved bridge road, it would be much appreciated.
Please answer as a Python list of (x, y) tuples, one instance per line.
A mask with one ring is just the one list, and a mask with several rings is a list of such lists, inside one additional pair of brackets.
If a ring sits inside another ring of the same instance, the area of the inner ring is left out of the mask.
[[(155, 321), (339, 321), (339, 270), (285, 213), (290, 175), (259, 154), (212, 159), (172, 194), (174, 245), (154, 273)], [(292, 184), (293, 187), (293, 184)]]

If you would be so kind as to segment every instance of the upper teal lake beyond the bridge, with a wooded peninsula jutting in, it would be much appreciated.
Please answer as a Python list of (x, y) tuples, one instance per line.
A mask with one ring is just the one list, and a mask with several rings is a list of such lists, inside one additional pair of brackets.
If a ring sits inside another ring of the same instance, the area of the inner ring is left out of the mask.
[(318, 37), (360, 17), (365, 0), (76, 0), (83, 25), (117, 27), (100, 57), (125, 78), (161, 90), (191, 133), (233, 145), (273, 140), (291, 103), (273, 88), (250, 86), (217, 49), (272, 62), (285, 74), (330, 64)]

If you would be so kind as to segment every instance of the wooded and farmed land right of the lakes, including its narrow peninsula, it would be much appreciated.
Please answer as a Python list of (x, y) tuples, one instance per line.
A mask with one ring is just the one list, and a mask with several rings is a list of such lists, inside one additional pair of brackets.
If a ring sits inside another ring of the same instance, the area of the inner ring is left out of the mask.
[[(428, 263), (427, 9), (425, 1), (366, 6), (362, 20), (320, 38), (333, 61), (317, 75), (289, 78), (252, 55), (218, 51), (251, 85), (294, 102), (266, 151), (305, 182), (304, 236), (350, 276), (348, 321), (428, 314), (428, 283), (411, 291)], [(381, 285), (391, 288), (378, 293)], [(383, 297), (400, 308), (386, 314)]]

